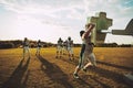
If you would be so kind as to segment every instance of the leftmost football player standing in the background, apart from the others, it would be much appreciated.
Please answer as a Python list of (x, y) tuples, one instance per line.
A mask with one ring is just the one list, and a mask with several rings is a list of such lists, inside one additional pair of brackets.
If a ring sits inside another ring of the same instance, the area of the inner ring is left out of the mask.
[(28, 53), (29, 58), (30, 58), (30, 51), (29, 51), (29, 40), (27, 37), (24, 37), (23, 41), (23, 58), (25, 57), (25, 54)]

